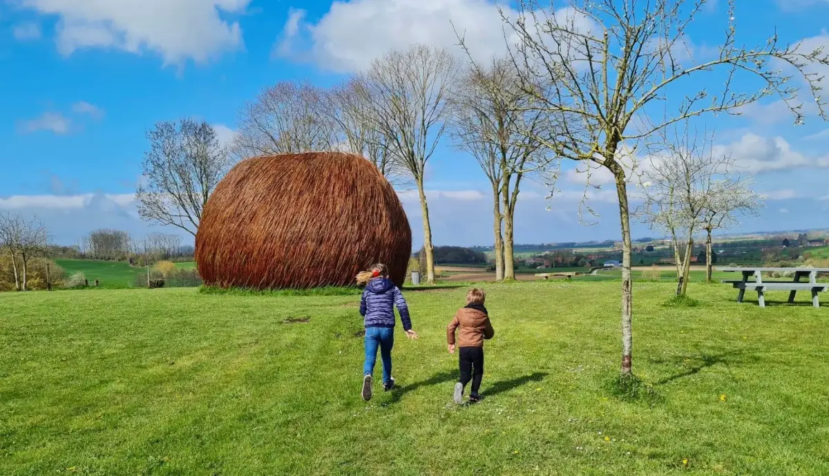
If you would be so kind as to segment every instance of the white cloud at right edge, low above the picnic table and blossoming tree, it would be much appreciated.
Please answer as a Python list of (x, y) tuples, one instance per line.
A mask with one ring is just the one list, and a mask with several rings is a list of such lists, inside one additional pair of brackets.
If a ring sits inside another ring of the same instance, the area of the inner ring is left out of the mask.
[(807, 157), (793, 150), (781, 137), (745, 134), (737, 142), (715, 146), (713, 152), (715, 155), (730, 155), (739, 167), (752, 173), (791, 168), (829, 168), (829, 155)]

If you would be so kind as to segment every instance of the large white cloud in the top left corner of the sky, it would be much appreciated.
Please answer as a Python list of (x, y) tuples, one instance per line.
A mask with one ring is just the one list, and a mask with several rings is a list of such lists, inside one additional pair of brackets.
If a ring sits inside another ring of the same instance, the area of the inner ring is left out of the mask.
[(22, 0), (58, 17), (56, 44), (65, 56), (83, 48), (153, 51), (165, 64), (205, 62), (243, 46), (238, 22), (250, 0)]

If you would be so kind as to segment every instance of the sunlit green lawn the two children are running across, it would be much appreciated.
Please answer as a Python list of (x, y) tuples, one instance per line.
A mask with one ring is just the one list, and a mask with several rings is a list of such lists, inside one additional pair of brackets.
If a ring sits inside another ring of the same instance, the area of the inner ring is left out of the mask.
[(2, 294), (0, 474), (829, 474), (829, 306), (637, 284), (620, 392), (618, 282), (484, 289), (486, 398), (461, 407), (465, 286), (405, 292), (421, 338), (397, 329), (400, 388), (369, 403), (356, 295)]

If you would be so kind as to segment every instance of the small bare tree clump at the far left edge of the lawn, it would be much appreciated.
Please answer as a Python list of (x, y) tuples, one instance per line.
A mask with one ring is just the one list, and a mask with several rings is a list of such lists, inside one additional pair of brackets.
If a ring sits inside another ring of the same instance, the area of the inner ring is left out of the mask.
[(15, 289), (25, 291), (31, 261), (49, 251), (49, 232), (36, 216), (27, 221), (20, 214), (0, 214), (0, 250), (12, 262)]

